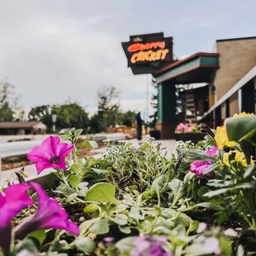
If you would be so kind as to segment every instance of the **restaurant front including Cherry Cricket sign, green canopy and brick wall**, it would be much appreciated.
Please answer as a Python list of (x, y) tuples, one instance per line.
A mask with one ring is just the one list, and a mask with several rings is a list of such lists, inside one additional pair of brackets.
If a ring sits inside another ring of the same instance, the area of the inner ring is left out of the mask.
[[(242, 88), (236, 91), (232, 88), (240, 80), (243, 82), (244, 76), (256, 65), (256, 37), (216, 40), (215, 52), (199, 52), (177, 61), (173, 60), (173, 39), (164, 38), (164, 33), (130, 36), (130, 42), (122, 43), (122, 46), (133, 73), (152, 73), (154, 76), (158, 88), (156, 128), (163, 140), (174, 139), (176, 88), (179, 84), (205, 83), (206, 88), (192, 92), (193, 117), (200, 121), (197, 115), (201, 115), (201, 120), (210, 126), (220, 125), (225, 117), (235, 112), (255, 112), (254, 76), (246, 84), (244, 82)], [(229, 97), (225, 99), (225, 95)], [(187, 101), (187, 105), (191, 102)]]

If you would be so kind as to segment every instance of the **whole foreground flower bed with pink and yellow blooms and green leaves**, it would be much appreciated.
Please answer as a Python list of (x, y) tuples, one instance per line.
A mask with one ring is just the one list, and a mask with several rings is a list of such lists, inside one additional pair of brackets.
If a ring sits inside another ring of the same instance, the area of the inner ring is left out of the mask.
[[(4, 255), (244, 255), (256, 248), (256, 116), (229, 118), (195, 145), (179, 142), (171, 159), (153, 140), (121, 141), (101, 159), (79, 159), (81, 130), (50, 136), (28, 154), (36, 182), (0, 193)], [(74, 146), (75, 145), (75, 146)], [(226, 151), (228, 149), (228, 151)], [(73, 152), (72, 163), (65, 157)]]

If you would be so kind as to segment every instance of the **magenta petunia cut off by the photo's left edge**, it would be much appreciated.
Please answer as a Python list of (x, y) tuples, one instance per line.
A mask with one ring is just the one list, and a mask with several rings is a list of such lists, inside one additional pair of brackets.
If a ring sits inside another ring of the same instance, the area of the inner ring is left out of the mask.
[(22, 209), (33, 205), (27, 195), (29, 186), (14, 184), (7, 187), (4, 194), (0, 192), (0, 246), (7, 253), (11, 246), (12, 230), (11, 221)]

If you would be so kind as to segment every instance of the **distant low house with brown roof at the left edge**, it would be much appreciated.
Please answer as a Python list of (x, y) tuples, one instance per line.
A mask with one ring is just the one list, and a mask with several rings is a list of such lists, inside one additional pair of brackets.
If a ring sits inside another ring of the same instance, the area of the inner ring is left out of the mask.
[(0, 135), (44, 134), (46, 126), (39, 121), (0, 122)]

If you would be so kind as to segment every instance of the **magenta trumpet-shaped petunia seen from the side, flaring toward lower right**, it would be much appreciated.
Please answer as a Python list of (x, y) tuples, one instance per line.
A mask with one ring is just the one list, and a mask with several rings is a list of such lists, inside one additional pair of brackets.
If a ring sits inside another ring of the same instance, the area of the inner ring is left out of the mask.
[(73, 235), (79, 235), (79, 227), (69, 220), (68, 213), (53, 198), (47, 196), (37, 183), (30, 183), (38, 197), (38, 207), (33, 216), (28, 217), (15, 229), (17, 239), (23, 239), (26, 234), (38, 229), (66, 230)]

